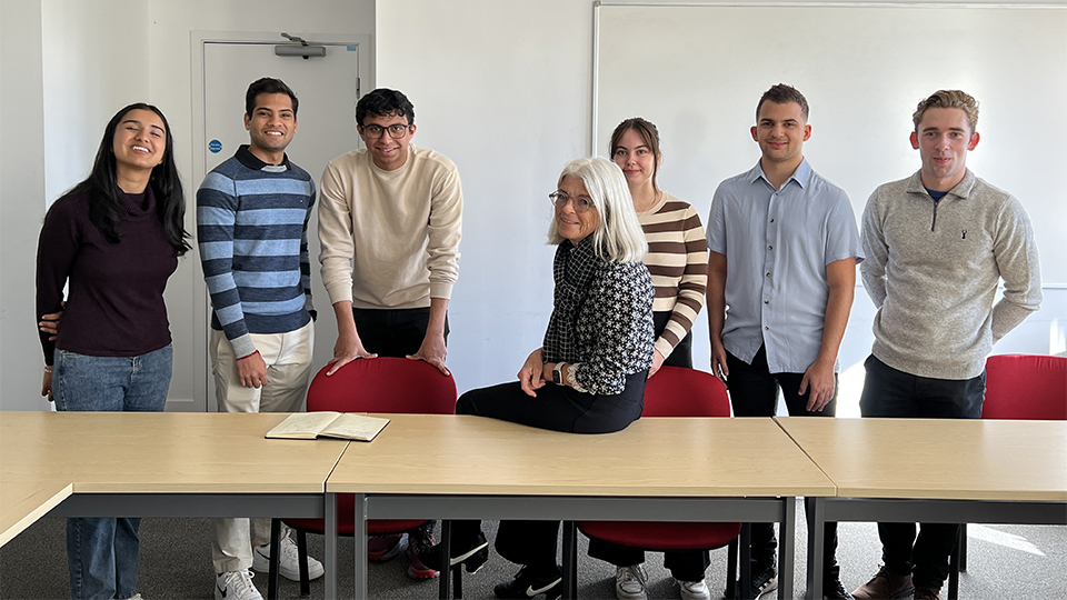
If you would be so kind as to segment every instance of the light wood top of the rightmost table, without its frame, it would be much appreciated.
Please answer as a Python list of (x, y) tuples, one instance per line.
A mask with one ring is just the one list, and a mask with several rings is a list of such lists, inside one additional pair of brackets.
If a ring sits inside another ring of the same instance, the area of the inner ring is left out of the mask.
[(1067, 421), (776, 420), (839, 497), (1067, 501)]

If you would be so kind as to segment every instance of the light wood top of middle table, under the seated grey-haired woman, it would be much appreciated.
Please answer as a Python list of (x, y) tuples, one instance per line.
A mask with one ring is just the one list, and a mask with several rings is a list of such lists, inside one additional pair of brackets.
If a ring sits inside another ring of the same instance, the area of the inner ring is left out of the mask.
[(617, 433), (547, 431), (470, 416), (383, 414), (352, 442), (330, 492), (509, 496), (832, 496), (770, 419), (640, 419)]

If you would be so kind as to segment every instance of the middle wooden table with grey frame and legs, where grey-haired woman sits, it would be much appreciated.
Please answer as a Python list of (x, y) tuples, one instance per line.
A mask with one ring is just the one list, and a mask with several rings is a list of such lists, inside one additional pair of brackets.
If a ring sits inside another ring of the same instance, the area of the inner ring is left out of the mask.
[[(357, 598), (367, 597), (365, 519), (777, 521), (780, 571), (791, 573), (795, 497), (835, 493), (766, 418), (641, 419), (578, 436), (480, 417), (383, 417), (389, 426), (350, 444), (327, 481), (328, 498), (357, 494)], [(791, 598), (792, 578), (781, 582), (779, 597)]]

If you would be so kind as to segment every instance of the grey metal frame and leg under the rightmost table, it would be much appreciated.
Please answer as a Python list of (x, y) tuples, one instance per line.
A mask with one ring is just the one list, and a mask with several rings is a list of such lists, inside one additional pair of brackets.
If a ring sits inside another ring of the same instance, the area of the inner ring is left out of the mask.
[(1067, 502), (815, 498), (808, 529), (808, 590), (822, 598), (822, 523), (882, 521), (928, 523), (1067, 524)]

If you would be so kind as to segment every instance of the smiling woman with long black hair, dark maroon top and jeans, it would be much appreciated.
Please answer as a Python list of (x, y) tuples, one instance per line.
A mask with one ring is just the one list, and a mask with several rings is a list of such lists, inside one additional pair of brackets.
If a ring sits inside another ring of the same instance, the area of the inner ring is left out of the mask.
[[(123, 108), (88, 179), (52, 204), (41, 228), (37, 316), (44, 323), (62, 314), (58, 332), (41, 327), (41, 394), (57, 410), (163, 410), (173, 362), (163, 289), (189, 250), (185, 213), (166, 117), (150, 104)], [(139, 526), (67, 520), (71, 598), (138, 596)]]

